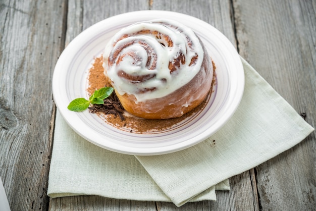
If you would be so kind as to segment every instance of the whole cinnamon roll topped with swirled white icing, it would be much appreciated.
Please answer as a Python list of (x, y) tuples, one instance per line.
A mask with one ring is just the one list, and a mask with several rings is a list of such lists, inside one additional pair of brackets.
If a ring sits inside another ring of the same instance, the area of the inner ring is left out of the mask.
[(124, 109), (146, 119), (191, 111), (213, 80), (213, 63), (198, 36), (165, 19), (120, 30), (104, 49), (103, 68)]

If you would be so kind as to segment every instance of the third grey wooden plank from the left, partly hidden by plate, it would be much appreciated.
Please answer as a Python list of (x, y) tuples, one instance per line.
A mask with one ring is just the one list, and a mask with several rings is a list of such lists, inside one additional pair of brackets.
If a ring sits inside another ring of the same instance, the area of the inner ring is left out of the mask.
[[(236, 46), (234, 22), (231, 19), (232, 5), (230, 1), (152, 1), (152, 10), (171, 10), (199, 18), (220, 30)], [(251, 180), (250, 171), (237, 175), (230, 180), (230, 191), (218, 191), (217, 201), (201, 201), (187, 203), (180, 210), (201, 210), (208, 207), (212, 210), (258, 210), (259, 202), (256, 197), (255, 180)], [(177, 210), (168, 202), (159, 202), (159, 210)]]

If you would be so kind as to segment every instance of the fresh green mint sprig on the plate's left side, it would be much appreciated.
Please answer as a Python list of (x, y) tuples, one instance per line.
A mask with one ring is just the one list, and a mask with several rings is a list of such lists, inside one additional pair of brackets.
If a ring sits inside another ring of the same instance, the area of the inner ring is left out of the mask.
[(102, 87), (98, 90), (95, 90), (93, 94), (89, 97), (89, 100), (80, 97), (72, 100), (69, 105), (68, 109), (73, 112), (81, 112), (86, 110), (90, 103), (91, 104), (103, 104), (103, 99), (109, 97), (113, 92), (112, 87)]

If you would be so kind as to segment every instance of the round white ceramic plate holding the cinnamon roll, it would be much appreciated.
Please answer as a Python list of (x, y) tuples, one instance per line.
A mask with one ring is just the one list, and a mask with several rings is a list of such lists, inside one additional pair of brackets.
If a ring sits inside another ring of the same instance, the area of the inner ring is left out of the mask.
[[(162, 17), (177, 20), (192, 28), (216, 64), (216, 92), (201, 112), (171, 130), (138, 134), (117, 129), (87, 110), (77, 113), (67, 109), (71, 100), (88, 98), (87, 74), (93, 58), (101, 55), (104, 46), (116, 32), (136, 22)], [(125, 13), (94, 24), (65, 48), (52, 78), (56, 105), (73, 130), (100, 147), (135, 155), (170, 153), (203, 141), (218, 131), (233, 115), (243, 89), (243, 66), (231, 42), (216, 28), (197, 18), (168, 11)]]

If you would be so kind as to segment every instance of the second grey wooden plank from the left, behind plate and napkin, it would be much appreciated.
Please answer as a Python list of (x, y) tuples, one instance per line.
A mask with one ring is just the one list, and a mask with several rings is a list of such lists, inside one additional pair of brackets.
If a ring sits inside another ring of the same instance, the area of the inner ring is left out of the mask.
[[(148, 10), (147, 1), (68, 1), (65, 45), (89, 26), (125, 12)], [(155, 202), (119, 200), (100, 196), (71, 196), (49, 201), (49, 210), (156, 210)]]

